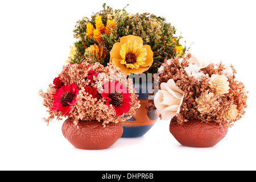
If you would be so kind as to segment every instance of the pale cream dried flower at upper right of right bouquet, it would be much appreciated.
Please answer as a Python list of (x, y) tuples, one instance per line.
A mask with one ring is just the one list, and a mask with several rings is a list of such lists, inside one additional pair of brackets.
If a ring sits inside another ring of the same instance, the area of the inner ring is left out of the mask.
[(220, 96), (224, 96), (224, 94), (229, 93), (229, 82), (228, 78), (225, 75), (215, 75), (213, 74), (210, 77), (209, 87), (213, 91)]

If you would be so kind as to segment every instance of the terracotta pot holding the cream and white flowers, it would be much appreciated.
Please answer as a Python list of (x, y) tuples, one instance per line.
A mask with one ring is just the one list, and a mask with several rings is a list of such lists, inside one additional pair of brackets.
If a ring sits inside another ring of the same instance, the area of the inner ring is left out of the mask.
[(170, 132), (183, 146), (188, 147), (213, 147), (228, 133), (228, 127), (218, 125), (216, 122), (200, 122), (191, 120), (183, 125), (172, 119)]

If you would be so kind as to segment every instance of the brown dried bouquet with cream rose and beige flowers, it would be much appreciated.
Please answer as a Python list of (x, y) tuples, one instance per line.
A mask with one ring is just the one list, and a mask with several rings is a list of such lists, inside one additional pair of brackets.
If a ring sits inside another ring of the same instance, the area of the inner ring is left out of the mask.
[(233, 65), (205, 63), (188, 53), (166, 59), (158, 70), (154, 104), (164, 120), (214, 121), (231, 127), (245, 113), (247, 90)]

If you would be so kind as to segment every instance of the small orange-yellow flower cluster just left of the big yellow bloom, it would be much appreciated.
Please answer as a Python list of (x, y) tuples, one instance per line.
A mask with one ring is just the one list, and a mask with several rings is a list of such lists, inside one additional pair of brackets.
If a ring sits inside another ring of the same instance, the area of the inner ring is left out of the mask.
[(102, 57), (102, 59), (105, 58), (105, 53), (103, 52), (103, 48), (100, 46), (97, 46), (96, 44), (88, 47), (85, 49), (84, 56), (86, 58), (94, 59), (96, 62), (98, 59)]

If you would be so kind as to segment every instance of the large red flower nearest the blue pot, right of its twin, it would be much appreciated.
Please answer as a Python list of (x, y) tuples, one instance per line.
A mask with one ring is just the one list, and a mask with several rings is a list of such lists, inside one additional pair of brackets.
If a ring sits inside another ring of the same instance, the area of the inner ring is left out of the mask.
[(110, 104), (112, 104), (115, 115), (122, 115), (130, 110), (130, 93), (125, 86), (117, 81), (105, 82), (101, 96), (107, 100), (106, 105), (110, 107)]

